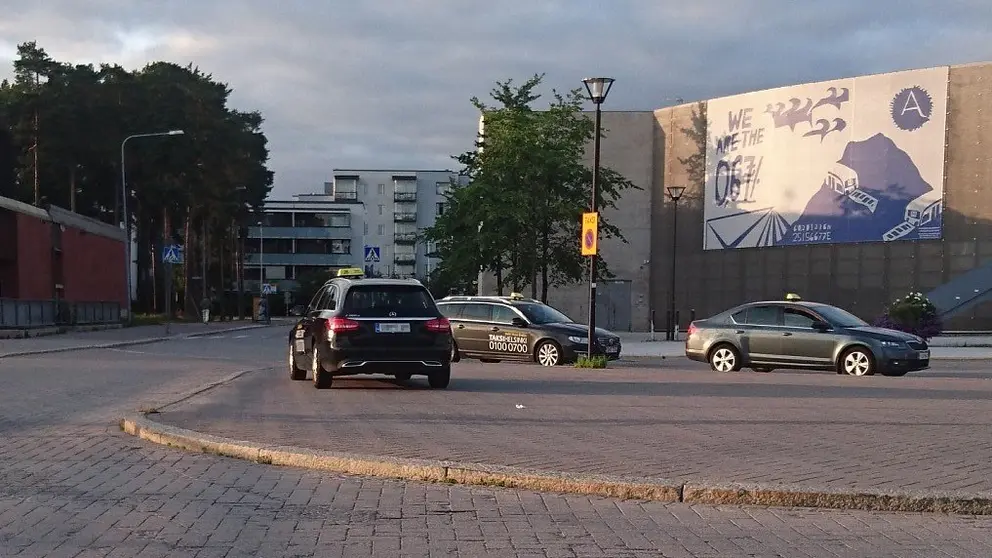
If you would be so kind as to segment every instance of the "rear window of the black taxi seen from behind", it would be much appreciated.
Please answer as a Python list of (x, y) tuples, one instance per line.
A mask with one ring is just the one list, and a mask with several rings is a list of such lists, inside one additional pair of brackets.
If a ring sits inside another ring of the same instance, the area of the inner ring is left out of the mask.
[(344, 315), (357, 318), (434, 317), (437, 307), (424, 287), (414, 285), (355, 285), (348, 289)]

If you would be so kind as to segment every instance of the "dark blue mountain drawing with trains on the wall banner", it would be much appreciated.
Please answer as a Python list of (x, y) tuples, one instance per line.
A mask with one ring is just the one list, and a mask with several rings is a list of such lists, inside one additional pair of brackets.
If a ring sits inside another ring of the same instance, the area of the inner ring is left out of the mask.
[[(898, 238), (919, 238), (915, 224), (906, 224), (909, 206), (933, 187), (920, 175), (908, 153), (878, 133), (864, 141), (848, 143), (838, 163), (856, 173), (857, 184), (838, 185), (825, 180), (776, 244), (890, 240), (892, 231), (900, 225)], [(939, 226), (939, 213), (934, 219), (937, 222), (926, 225)], [(823, 231), (829, 231), (829, 236), (816, 234)]]

